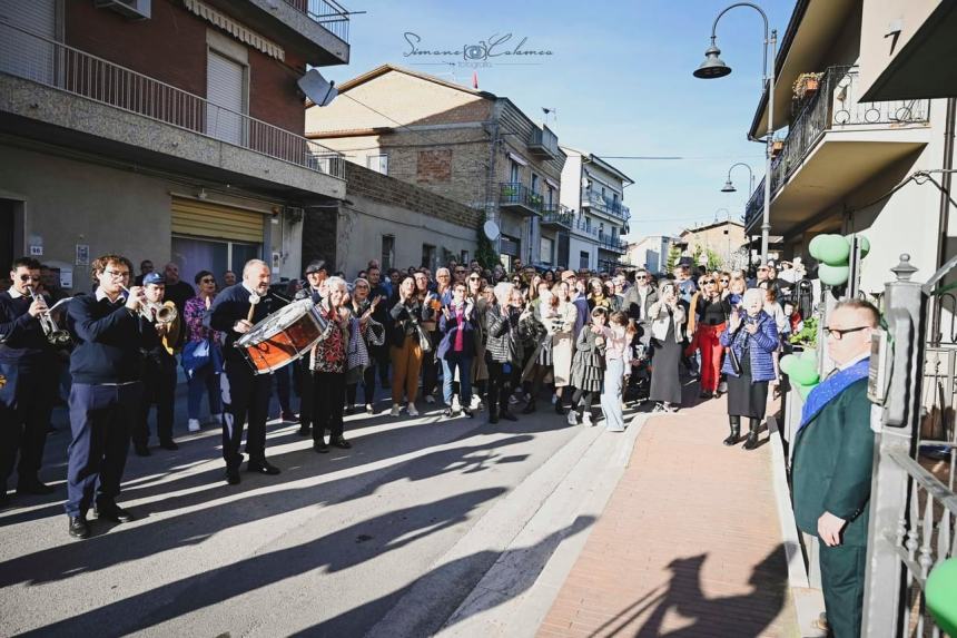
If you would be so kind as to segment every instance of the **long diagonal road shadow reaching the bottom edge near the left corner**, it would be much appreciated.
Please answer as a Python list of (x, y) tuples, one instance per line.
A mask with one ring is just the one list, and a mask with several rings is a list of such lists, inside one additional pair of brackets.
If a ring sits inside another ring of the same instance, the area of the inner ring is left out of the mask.
[(504, 488), (456, 494), (366, 519), (290, 548), (256, 554), (98, 607), (23, 636), (124, 636), (312, 571), (336, 572), (465, 522)]

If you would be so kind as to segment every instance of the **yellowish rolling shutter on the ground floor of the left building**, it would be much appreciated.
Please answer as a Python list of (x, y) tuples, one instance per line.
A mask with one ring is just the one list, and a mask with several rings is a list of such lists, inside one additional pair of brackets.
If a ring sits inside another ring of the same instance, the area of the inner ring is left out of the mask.
[(175, 235), (262, 244), (264, 220), (262, 213), (185, 197), (172, 198)]

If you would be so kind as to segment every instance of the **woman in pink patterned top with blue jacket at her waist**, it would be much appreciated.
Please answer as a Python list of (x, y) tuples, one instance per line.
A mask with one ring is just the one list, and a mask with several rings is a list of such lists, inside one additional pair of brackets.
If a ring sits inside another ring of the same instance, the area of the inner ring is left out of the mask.
[(216, 277), (209, 271), (199, 271), (194, 281), (197, 294), (188, 300), (182, 308), (187, 334), (181, 359), (186, 372), (188, 429), (190, 432), (199, 432), (199, 405), (204, 392), (209, 401), (210, 420), (217, 424), (223, 420), (223, 404), (219, 400), (223, 333), (203, 325), (203, 316), (216, 298)]

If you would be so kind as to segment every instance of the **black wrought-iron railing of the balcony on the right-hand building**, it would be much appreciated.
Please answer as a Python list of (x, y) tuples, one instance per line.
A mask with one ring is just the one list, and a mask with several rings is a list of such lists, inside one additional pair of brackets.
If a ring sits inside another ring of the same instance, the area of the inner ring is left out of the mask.
[[(925, 124), (930, 117), (930, 100), (908, 99), (887, 102), (861, 102), (857, 67), (830, 67), (811, 97), (788, 128), (781, 153), (771, 164), (771, 197), (801, 166), (828, 131), (866, 129), (880, 126), (898, 128)], [(746, 213), (750, 226), (764, 207), (764, 184), (751, 194)]]

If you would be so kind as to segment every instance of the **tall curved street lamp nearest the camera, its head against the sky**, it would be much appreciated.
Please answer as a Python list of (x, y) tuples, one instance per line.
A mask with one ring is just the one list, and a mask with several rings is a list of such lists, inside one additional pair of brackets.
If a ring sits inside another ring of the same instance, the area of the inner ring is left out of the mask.
[[(761, 261), (768, 261), (768, 238), (771, 234), (771, 153), (773, 148), (775, 141), (775, 63), (771, 61), (770, 70), (768, 68), (768, 47), (771, 47), (771, 56), (775, 55), (775, 46), (778, 42), (778, 31), (775, 29), (768, 30), (768, 14), (761, 10), (760, 7), (753, 4), (751, 2), (736, 2), (729, 7), (726, 7), (718, 17), (714, 18), (714, 23), (711, 26), (711, 46), (704, 51), (704, 61), (701, 62), (701, 66), (694, 70), (694, 77), (701, 79), (712, 79), (712, 78), (723, 78), (728, 73), (731, 72), (731, 67), (726, 65), (721, 58), (721, 49), (718, 48), (716, 43), (718, 36), (718, 21), (721, 19), (724, 13), (734, 9), (736, 7), (750, 7), (758, 11), (761, 14), (761, 18), (764, 20), (764, 62), (763, 62), (763, 73), (764, 77), (762, 79), (762, 88), (766, 86), (768, 89), (768, 134), (766, 136), (764, 143), (767, 148), (764, 150), (766, 161), (764, 161), (764, 210), (762, 212), (761, 219)], [(729, 171), (730, 175), (730, 171)], [(730, 177), (728, 179), (728, 184), (726, 187), (733, 186), (731, 185)], [(724, 190), (722, 188), (722, 190)], [(733, 190), (724, 190), (726, 193)]]

